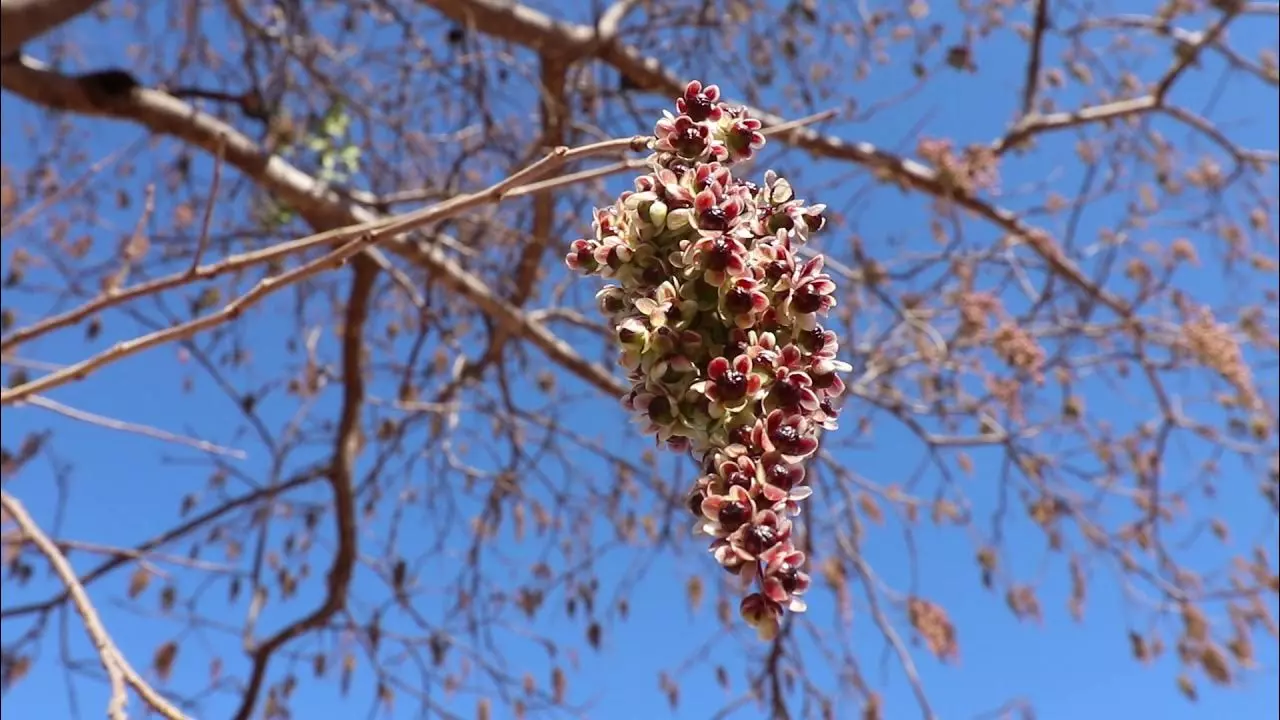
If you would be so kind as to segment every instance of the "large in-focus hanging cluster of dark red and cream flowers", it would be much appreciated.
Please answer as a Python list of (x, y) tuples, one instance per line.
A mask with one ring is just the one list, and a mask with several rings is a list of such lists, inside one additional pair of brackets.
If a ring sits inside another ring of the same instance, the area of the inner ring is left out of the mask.
[(762, 186), (733, 177), (764, 136), (716, 86), (689, 83), (676, 110), (654, 129), (650, 172), (595, 210), (595, 237), (573, 241), (566, 263), (617, 283), (596, 299), (630, 372), (625, 404), (659, 442), (700, 460), (689, 510), (721, 566), (756, 585), (741, 614), (769, 638), (783, 609), (804, 610), (791, 518), (850, 369), (819, 324), (836, 283), (820, 255), (797, 255), (824, 206), (806, 206), (772, 170)]

